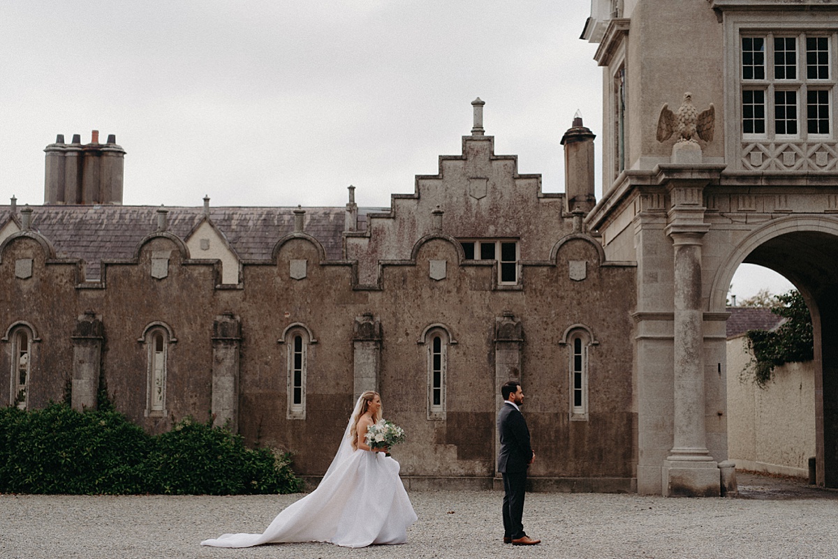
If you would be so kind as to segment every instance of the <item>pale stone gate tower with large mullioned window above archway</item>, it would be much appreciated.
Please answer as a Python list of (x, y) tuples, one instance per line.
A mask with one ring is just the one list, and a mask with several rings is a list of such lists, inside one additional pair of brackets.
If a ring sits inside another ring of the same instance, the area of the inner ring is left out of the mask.
[[(838, 322), (836, 31), (832, 0), (592, 4), (604, 195), (586, 223), (607, 259), (638, 264), (640, 493), (729, 482), (725, 300), (742, 262), (784, 274), (809, 305), (817, 482), (838, 486), (838, 350), (825, 336)], [(659, 136), (662, 107), (686, 92), (715, 105), (711, 141)]]

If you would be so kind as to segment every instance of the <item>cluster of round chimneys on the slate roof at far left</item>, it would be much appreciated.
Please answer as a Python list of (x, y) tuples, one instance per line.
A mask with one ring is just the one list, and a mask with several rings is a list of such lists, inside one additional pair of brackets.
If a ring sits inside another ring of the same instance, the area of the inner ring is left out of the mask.
[(44, 204), (122, 204), (125, 150), (116, 145), (116, 135), (100, 144), (95, 130), (82, 146), (79, 134), (70, 144), (59, 134), (44, 151)]

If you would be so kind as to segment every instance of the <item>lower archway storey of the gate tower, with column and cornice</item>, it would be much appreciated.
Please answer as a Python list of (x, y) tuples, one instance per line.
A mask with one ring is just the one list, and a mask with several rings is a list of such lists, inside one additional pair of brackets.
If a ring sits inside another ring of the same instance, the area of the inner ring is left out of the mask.
[(838, 216), (830, 177), (744, 185), (724, 166), (624, 172), (587, 217), (637, 262), (634, 392), (642, 494), (719, 495), (727, 458), (727, 290), (739, 264), (783, 274), (815, 325), (818, 481), (838, 486)]

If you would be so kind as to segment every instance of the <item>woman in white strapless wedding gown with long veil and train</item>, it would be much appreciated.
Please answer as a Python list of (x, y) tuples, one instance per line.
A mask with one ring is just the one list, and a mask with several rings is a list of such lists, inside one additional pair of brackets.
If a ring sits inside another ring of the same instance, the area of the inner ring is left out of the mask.
[[(317, 489), (289, 505), (261, 534), (225, 534), (202, 546), (250, 547), (265, 543), (327, 541), (344, 547), (407, 541), (416, 521), (399, 479), (399, 463), (366, 444), (370, 425), (381, 418), (378, 392), (361, 394), (338, 454)], [(377, 449), (386, 450), (386, 449)]]

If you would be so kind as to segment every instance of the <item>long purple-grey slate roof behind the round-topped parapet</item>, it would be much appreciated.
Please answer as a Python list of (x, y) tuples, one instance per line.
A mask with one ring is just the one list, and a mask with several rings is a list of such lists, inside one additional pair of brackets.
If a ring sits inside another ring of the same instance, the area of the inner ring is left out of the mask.
[[(30, 206), (32, 228), (54, 245), (59, 258), (83, 259), (88, 280), (100, 277), (101, 260), (132, 259), (137, 244), (157, 231), (157, 206)], [(0, 206), (0, 225), (6, 223), (10, 206)], [(18, 206), (18, 223), (20, 209)], [(204, 208), (165, 207), (167, 230), (186, 239), (204, 219)], [(267, 260), (277, 240), (294, 229), (295, 208), (209, 208), (209, 219), (225, 235), (243, 260)], [(304, 231), (316, 238), (327, 259), (343, 258), (346, 209), (303, 208)], [(359, 208), (358, 228), (366, 225), (365, 213), (381, 208)]]

